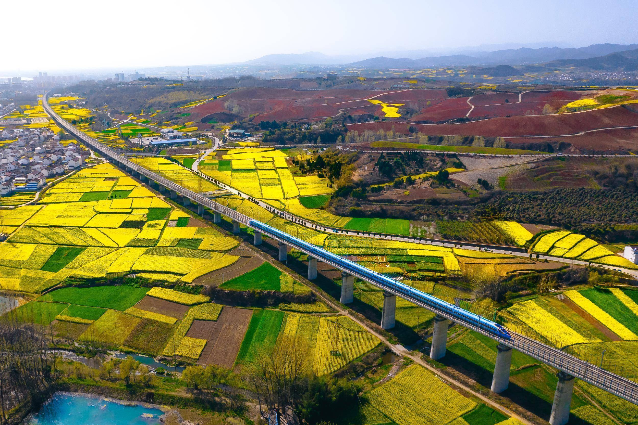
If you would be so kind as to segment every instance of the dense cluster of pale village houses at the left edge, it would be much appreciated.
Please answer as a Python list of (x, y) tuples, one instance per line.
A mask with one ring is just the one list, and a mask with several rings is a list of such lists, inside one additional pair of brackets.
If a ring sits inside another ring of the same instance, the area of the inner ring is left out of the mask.
[(91, 152), (71, 142), (66, 146), (49, 129), (4, 129), (0, 141), (15, 140), (0, 147), (0, 196), (34, 192), (47, 178), (84, 166)]

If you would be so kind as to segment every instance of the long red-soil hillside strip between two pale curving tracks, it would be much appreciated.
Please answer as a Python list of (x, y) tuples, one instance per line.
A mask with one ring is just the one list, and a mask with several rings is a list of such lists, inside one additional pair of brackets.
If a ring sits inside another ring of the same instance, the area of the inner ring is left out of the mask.
[[(408, 127), (432, 136), (460, 135), (486, 137), (561, 136), (606, 127), (638, 126), (638, 113), (616, 106), (580, 113), (555, 115), (531, 115), (523, 117), (498, 117), (459, 124), (410, 124), (398, 121), (348, 124), (348, 130), (378, 131), (382, 128), (408, 134)], [(537, 140), (540, 141), (540, 140)]]

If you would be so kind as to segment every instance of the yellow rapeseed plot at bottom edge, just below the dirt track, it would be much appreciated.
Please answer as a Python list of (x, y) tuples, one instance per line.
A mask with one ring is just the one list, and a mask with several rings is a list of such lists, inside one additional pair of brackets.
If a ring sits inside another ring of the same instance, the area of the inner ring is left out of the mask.
[(368, 398), (397, 425), (447, 424), (477, 405), (416, 365), (373, 389)]

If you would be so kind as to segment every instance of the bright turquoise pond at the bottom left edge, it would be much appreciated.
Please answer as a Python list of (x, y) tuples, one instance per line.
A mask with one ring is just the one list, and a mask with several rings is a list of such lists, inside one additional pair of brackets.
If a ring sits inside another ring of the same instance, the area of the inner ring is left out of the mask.
[(163, 412), (123, 405), (98, 396), (56, 393), (24, 424), (27, 425), (158, 425)]

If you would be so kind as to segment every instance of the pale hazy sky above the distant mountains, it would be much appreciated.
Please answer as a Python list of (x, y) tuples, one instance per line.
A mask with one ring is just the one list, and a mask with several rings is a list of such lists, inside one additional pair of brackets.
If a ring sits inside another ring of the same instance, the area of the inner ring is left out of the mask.
[(0, 72), (220, 64), (309, 51), (628, 44), (638, 42), (637, 6), (635, 0), (8, 1)]

